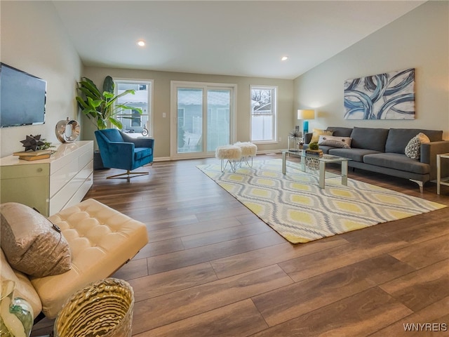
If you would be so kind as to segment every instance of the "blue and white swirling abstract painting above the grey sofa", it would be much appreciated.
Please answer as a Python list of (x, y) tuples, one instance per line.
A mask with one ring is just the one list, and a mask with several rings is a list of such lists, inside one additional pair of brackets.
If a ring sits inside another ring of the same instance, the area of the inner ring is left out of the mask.
[(344, 81), (344, 119), (415, 119), (415, 69)]

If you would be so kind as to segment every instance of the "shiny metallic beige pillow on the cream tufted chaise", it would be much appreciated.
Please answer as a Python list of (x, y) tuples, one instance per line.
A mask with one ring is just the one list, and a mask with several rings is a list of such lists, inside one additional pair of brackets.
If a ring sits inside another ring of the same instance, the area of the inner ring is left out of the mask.
[(58, 227), (23, 204), (0, 205), (1, 249), (11, 267), (34, 277), (70, 270), (69, 244)]

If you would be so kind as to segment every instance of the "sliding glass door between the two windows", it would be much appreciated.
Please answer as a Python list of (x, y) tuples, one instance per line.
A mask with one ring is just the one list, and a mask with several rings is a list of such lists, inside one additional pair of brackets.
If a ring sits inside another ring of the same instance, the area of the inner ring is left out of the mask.
[(170, 157), (210, 157), (234, 138), (234, 86), (172, 82)]

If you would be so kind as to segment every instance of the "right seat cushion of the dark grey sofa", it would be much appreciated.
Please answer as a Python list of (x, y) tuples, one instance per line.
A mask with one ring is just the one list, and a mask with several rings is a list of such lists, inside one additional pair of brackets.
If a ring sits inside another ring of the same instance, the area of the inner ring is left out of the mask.
[(368, 154), (363, 157), (363, 162), (366, 164), (388, 167), (389, 169), (396, 169), (399, 171), (407, 171), (417, 174), (430, 173), (430, 165), (421, 163), (414, 159), (408, 158), (405, 154), (399, 153), (379, 153)]

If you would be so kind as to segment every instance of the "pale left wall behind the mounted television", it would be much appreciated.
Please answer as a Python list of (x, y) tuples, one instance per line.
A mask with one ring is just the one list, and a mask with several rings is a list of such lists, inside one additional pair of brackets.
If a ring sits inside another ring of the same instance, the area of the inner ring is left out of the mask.
[(82, 70), (79, 55), (51, 1), (0, 1), (0, 15), (1, 62), (47, 81), (46, 123), (1, 128), (0, 157), (24, 150), (20, 140), (31, 134), (58, 146), (56, 123), (80, 117), (74, 99)]

